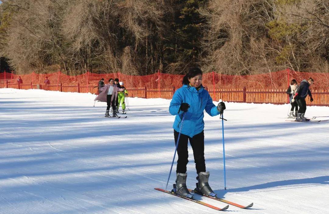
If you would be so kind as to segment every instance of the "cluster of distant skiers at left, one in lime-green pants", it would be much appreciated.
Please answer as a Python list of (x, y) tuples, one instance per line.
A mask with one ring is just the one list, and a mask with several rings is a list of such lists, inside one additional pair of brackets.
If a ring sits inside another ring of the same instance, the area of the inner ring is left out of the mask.
[[(123, 86), (123, 82), (119, 82), (118, 78), (109, 79), (108, 84), (104, 84), (104, 78), (98, 82), (98, 96), (95, 98), (101, 102), (107, 103), (105, 117), (118, 117), (119, 107), (122, 107), (122, 113), (125, 114), (126, 103), (125, 97), (128, 91)], [(110, 116), (110, 108), (112, 107), (112, 116)]]

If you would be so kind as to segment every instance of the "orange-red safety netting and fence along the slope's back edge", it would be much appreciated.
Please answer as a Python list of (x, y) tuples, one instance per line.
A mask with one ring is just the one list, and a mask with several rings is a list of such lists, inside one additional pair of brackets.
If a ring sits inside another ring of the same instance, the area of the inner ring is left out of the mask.
[[(17, 78), (21, 76), (23, 83), (18, 84)], [(110, 78), (118, 78), (124, 82), (131, 97), (166, 98), (171, 99), (176, 89), (182, 86), (184, 75), (170, 75), (156, 73), (146, 76), (131, 76), (121, 73), (93, 74), (87, 72), (82, 75), (69, 76), (61, 72), (52, 74), (15, 75), (13, 73), (0, 73), (0, 87), (19, 89), (44, 89), (63, 92), (97, 93), (98, 81), (104, 78), (107, 84)], [(50, 84), (45, 84), (48, 77)], [(298, 84), (303, 79), (312, 77), (311, 86), (314, 102), (307, 99), (308, 105), (329, 106), (329, 73), (303, 73), (286, 69), (259, 75), (223, 75), (215, 72), (203, 74), (202, 84), (213, 100), (247, 103), (289, 103), (285, 93), (291, 79)]]

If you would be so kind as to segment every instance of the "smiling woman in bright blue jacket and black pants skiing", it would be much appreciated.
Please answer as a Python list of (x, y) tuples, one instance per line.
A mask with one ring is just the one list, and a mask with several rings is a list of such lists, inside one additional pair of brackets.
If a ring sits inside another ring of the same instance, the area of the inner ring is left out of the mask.
[[(189, 162), (188, 140), (190, 140), (198, 174), (196, 190), (206, 195), (215, 195), (208, 183), (209, 172), (206, 172), (203, 111), (206, 110), (210, 116), (217, 116), (222, 114), (224, 109), (223, 102), (220, 102), (217, 107), (214, 105), (208, 91), (202, 86), (202, 71), (199, 68), (191, 68), (183, 78), (183, 86), (175, 92), (169, 106), (170, 114), (176, 115), (173, 124), (175, 143), (178, 143), (177, 177), (176, 186), (173, 189), (176, 194), (192, 197), (186, 186), (186, 165)], [(183, 126), (179, 142), (177, 142), (183, 114), (185, 114)]]

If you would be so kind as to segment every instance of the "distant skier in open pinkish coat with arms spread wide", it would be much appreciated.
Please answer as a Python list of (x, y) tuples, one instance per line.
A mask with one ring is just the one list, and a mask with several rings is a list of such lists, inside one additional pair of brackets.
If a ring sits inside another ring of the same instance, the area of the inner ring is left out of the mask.
[(99, 100), (101, 102), (107, 102), (105, 117), (110, 117), (109, 111), (110, 111), (111, 106), (113, 109), (112, 117), (118, 117), (116, 115), (116, 111), (115, 111), (116, 110), (115, 109), (115, 100), (116, 100), (116, 97), (118, 96), (118, 91), (122, 92), (122, 91), (124, 91), (124, 89), (118, 88), (113, 83), (114, 83), (114, 79), (113, 78), (109, 79), (109, 84), (107, 84), (101, 88), (102, 92), (95, 99), (95, 100)]

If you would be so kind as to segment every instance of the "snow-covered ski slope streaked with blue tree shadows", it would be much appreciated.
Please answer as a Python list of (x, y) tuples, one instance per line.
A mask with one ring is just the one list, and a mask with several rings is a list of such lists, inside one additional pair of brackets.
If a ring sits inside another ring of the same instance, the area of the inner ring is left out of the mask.
[[(116, 119), (98, 117), (106, 105), (93, 107), (94, 97), (0, 89), (1, 214), (221, 212), (154, 190), (165, 187), (174, 152), (170, 100), (129, 98), (128, 118)], [(308, 107), (306, 116), (324, 121), (298, 123), (285, 121), (287, 104), (226, 107), (226, 191), (221, 122), (204, 119), (210, 184), (220, 197), (254, 206), (222, 212), (327, 213), (329, 108)], [(174, 180), (175, 166), (168, 189)]]

